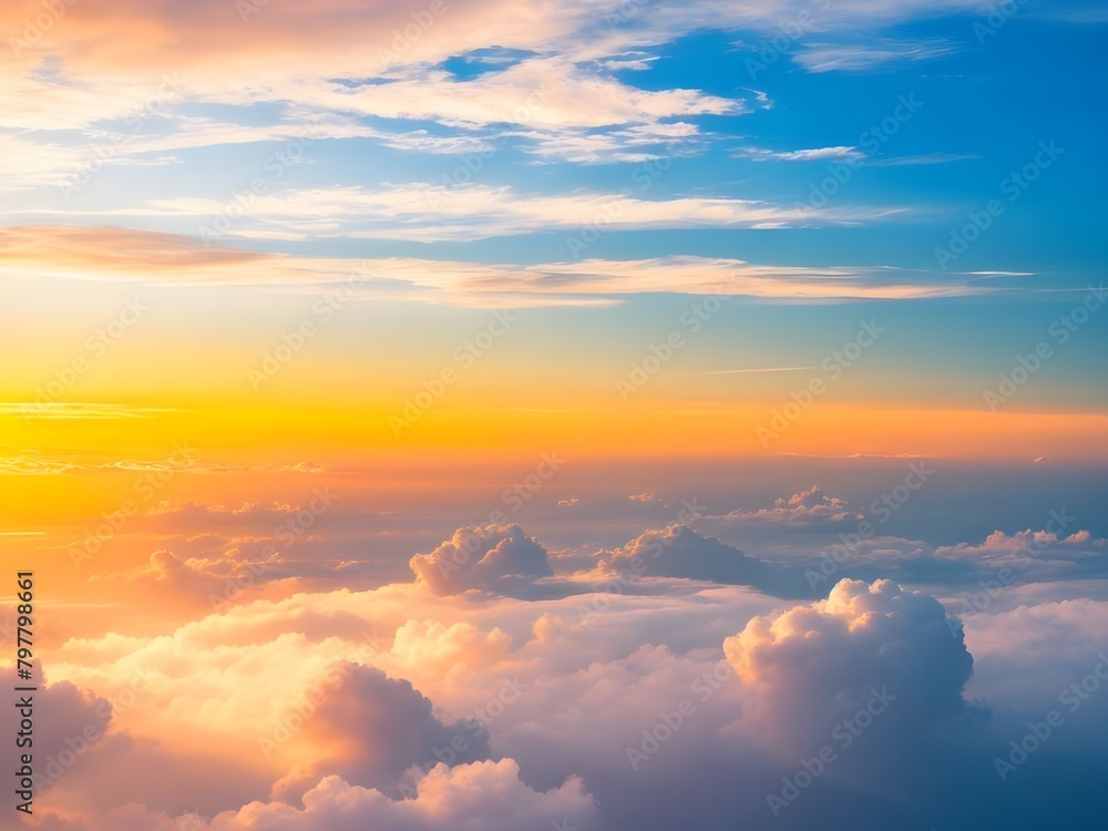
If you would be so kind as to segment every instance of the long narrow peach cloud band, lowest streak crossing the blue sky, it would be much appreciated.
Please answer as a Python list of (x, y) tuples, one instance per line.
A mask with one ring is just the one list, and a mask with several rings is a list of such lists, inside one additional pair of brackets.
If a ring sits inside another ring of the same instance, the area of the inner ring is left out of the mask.
[[(581, 222), (579, 215), (575, 222)], [(642, 293), (794, 302), (954, 297), (989, 290), (965, 275), (889, 267), (792, 267), (696, 256), (526, 266), (342, 259), (209, 248), (186, 237), (124, 228), (7, 228), (0, 230), (0, 254), (8, 260), (9, 274), (22, 277), (267, 285), (316, 291), (342, 284), (359, 297), (481, 308), (609, 304)]]

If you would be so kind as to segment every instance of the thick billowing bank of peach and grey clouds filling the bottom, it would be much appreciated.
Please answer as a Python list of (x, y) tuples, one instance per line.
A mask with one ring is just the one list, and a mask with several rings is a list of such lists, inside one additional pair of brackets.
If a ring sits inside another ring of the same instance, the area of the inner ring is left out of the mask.
[[(656, 534), (624, 547), (650, 557)], [(1018, 828), (1020, 817), (1043, 819), (1020, 800), (1053, 806), (1050, 794), (1095, 809), (1104, 699), (1067, 712), (1042, 765), (1019, 770), (1018, 791), (993, 758), (1043, 719), (1061, 685), (1091, 671), (1105, 604), (981, 615), (967, 626), (971, 658), (934, 597), (888, 581), (842, 581), (827, 599), (782, 604), (745, 587), (650, 579), (655, 591), (614, 594), (584, 617), (579, 596), (452, 596), (416, 583), (256, 602), (166, 635), (72, 639), (53, 673), (74, 690), (121, 700), (134, 667), (153, 683), (120, 714), (126, 741), (98, 746), (62, 779), (64, 801), (41, 808), (64, 804), (84, 831), (174, 831), (194, 808), (168, 792), (208, 783), (204, 771), (222, 760), (223, 787), (199, 810), (205, 831), (514, 831), (563, 819), (582, 831), (660, 831), (681, 820), (758, 828), (772, 819), (767, 793), (830, 746), (834, 761), (774, 825), (800, 830), (849, 811), (859, 828), (889, 828), (909, 804), (912, 828), (962, 831), (982, 815)], [(371, 625), (381, 637), (362, 642)], [(459, 727), (472, 739), (463, 717), (491, 712), (503, 679), (516, 676), (523, 693), (486, 719), (488, 743), (463, 751), (492, 759), (454, 758), (424, 773), (435, 745)], [(998, 696), (1010, 712), (971, 701), (966, 685), (978, 680), (976, 694)], [(322, 694), (315, 709), (265, 758), (258, 738), (314, 693)], [(659, 731), (664, 719), (678, 727)], [(666, 738), (633, 767), (628, 749), (652, 731)], [(404, 789), (399, 799), (404, 784), (418, 796)]]

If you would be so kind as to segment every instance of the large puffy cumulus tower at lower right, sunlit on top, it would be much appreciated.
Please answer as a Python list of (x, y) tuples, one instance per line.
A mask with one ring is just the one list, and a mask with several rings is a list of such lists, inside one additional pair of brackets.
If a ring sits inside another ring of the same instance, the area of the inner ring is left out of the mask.
[(724, 650), (753, 693), (745, 718), (791, 753), (810, 750), (875, 691), (894, 697), (889, 720), (922, 739), (936, 721), (964, 712), (973, 671), (942, 605), (891, 581), (841, 581), (825, 601), (753, 618)]

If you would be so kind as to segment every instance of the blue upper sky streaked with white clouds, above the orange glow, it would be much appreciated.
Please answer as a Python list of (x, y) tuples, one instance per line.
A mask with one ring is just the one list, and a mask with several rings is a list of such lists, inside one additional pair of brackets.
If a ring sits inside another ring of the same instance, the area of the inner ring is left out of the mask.
[[(223, 258), (209, 281), (310, 288), (368, 260), (391, 290), (367, 299), (399, 301), (413, 331), (439, 315), (427, 300), (532, 305), (529, 353), (563, 375), (586, 352), (618, 371), (689, 294), (715, 290), (726, 260), (760, 283), (727, 289), (721, 322), (667, 370), (680, 394), (720, 402), (780, 394), (791, 379), (708, 388), (698, 372), (818, 362), (876, 315), (893, 335), (832, 399), (979, 409), (983, 388), (1102, 280), (1108, 59), (1096, 4), (620, 9), (614, 21), (552, 7), (544, 35), (503, 21), (474, 32), (451, 22), (472, 9), (445, 7), (388, 62), (375, 51), (420, 10), (349, 44), (326, 20), (297, 33), (259, 10), (239, 21), (237, 52), (209, 39), (191, 55), (166, 35), (115, 59), (74, 45), (78, 12), (16, 55), (34, 103), (9, 115), (0, 198), (41, 245), (51, 228), (113, 226), (154, 261), (172, 248), (167, 266), (189, 246)], [(182, 25), (198, 37), (205, 24)], [(314, 28), (339, 39), (334, 62), (283, 58), (325, 53)], [(252, 82), (214, 70), (219, 60), (253, 69)], [(979, 234), (974, 216), (988, 222)], [(977, 238), (963, 252), (965, 234)], [(76, 260), (37, 270), (100, 256), (76, 239)], [(297, 266), (244, 277), (235, 252)], [(419, 260), (410, 271), (433, 289), (398, 274), (398, 257)], [(469, 264), (544, 277), (490, 278), (474, 294)], [(195, 279), (160, 275), (183, 277)], [(557, 307), (597, 301), (568, 336)], [(375, 325), (369, 306), (351, 315)], [(460, 331), (471, 317), (444, 319)], [(1076, 332), (1009, 409), (1102, 413), (1106, 338), (1102, 326)]]

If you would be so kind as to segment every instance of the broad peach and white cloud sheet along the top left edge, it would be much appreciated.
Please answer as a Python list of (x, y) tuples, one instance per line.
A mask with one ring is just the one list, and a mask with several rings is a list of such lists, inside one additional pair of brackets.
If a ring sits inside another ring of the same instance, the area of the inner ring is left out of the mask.
[[(527, 123), (551, 129), (557, 142), (562, 130), (741, 112), (741, 102), (699, 90), (639, 89), (611, 74), (643, 69), (658, 47), (684, 34), (777, 32), (796, 24), (806, 10), (808, 31), (856, 31), (965, 8), (927, 0), (809, 6), (777, 0), (752, 9), (697, 0), (679, 9), (644, 2), (604, 10), (572, 0), (523, 11), (494, 0), (443, 3), (435, 12), (425, 0), (329, 0), (311, 10), (249, 3), (228, 9), (223, 0), (164, 8), (123, 0), (106, 14), (65, 7), (57, 25), (51, 19), (49, 32), (30, 37), (41, 3), (16, 0), (0, 17), (6, 31), (19, 33), (2, 58), (12, 83), (0, 95), (0, 106), (20, 129), (88, 127), (140, 110), (162, 79), (179, 73), (185, 104), (280, 104), (300, 116), (418, 120), (460, 129)], [(859, 47), (853, 55), (817, 52), (810, 61), (817, 68), (853, 66), (889, 60), (888, 52), (937, 49), (930, 42), (883, 43), (865, 58), (858, 57), (864, 51)], [(486, 61), (480, 74), (462, 79), (442, 68), (449, 58), (479, 54), (494, 44), (507, 57)], [(242, 83), (244, 78), (250, 82)], [(545, 101), (527, 104), (537, 90), (545, 91)], [(228, 135), (228, 141), (235, 138)], [(437, 152), (418, 142), (407, 146)], [(542, 152), (552, 153), (550, 147)], [(42, 158), (39, 164), (58, 166)]]

